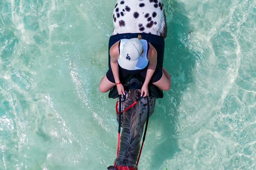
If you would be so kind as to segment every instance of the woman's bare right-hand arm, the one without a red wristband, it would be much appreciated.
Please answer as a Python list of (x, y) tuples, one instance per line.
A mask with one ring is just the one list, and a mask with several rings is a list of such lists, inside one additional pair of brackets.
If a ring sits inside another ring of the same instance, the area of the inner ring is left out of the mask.
[(143, 92), (145, 93), (144, 97), (148, 95), (148, 83), (155, 72), (156, 64), (157, 64), (157, 51), (150, 43), (149, 43), (149, 51), (148, 51), (147, 58), (148, 58), (148, 69), (147, 69), (145, 82), (141, 89), (141, 95), (143, 95)]

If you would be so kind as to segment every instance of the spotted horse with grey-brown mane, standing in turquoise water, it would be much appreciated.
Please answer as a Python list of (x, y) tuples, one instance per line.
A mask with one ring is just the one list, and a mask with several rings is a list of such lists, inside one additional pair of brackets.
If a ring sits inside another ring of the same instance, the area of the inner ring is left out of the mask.
[[(112, 36), (114, 37), (124, 35), (125, 38), (128, 38), (130, 33), (138, 33), (142, 34), (142, 38), (147, 37), (147, 35), (155, 35), (161, 37), (163, 40), (167, 36), (167, 24), (162, 0), (117, 0), (113, 11), (113, 24), (114, 30)], [(136, 36), (137, 35), (135, 35), (135, 37)], [(115, 40), (113, 41), (117, 42)], [(153, 42), (154, 41), (152, 41), (152, 45)], [(164, 49), (164, 41), (162, 45), (161, 49)], [(111, 44), (109, 46), (111, 46)], [(160, 61), (160, 63), (161, 62), (162, 61)], [(132, 84), (132, 80), (135, 80), (133, 84), (136, 84), (137, 80), (137, 87), (128, 88)], [(142, 80), (136, 77), (129, 77), (124, 80), (123, 84), (127, 86), (128, 90), (126, 90), (126, 94), (123, 95), (122, 99), (120, 97), (117, 99), (116, 108), (119, 108), (119, 104), (121, 103), (121, 108), (124, 110), (138, 100), (141, 96), (141, 90), (139, 88), (142, 86), (142, 83)], [(149, 92), (150, 89), (149, 87)], [(144, 124), (148, 117), (154, 113), (155, 109), (157, 96), (154, 95), (154, 92), (155, 90), (151, 89), (148, 101), (146, 98), (142, 97), (133, 107), (125, 110), (121, 114), (121, 127), (123, 129), (120, 137), (120, 147), (114, 161), (115, 166), (109, 166), (108, 170), (138, 169), (137, 160), (140, 152), (140, 141), (143, 135)], [(110, 91), (109, 97), (112, 98), (117, 97), (118, 93), (116, 94), (115, 91), (115, 97), (111, 95)], [(121, 102), (120, 99), (124, 100), (124, 98), (126, 98), (126, 100)], [(118, 111), (116, 116), (117, 122), (119, 122)]]

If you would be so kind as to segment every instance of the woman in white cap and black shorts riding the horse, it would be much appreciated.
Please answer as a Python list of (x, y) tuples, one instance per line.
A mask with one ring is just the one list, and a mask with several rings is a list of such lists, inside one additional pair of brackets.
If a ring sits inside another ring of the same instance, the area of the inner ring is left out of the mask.
[(157, 65), (157, 51), (141, 36), (130, 40), (123, 39), (116, 42), (110, 48), (111, 68), (101, 79), (99, 89), (101, 92), (108, 92), (115, 85), (118, 93), (124, 94), (124, 87), (120, 83), (129, 74), (141, 74), (144, 84), (141, 88), (141, 96), (148, 95), (148, 84), (152, 83), (162, 90), (169, 90), (171, 78), (164, 67)]

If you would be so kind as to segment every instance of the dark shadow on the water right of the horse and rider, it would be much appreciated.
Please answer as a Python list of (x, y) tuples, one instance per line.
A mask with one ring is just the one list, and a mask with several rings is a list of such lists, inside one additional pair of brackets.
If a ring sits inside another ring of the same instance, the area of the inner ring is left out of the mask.
[[(168, 24), (168, 35), (165, 39), (164, 66), (172, 75), (172, 86), (158, 99), (153, 121), (159, 122), (163, 128), (161, 138), (166, 140), (152, 150), (151, 167), (160, 169), (164, 161), (172, 159), (180, 152), (178, 146), (179, 105), (184, 91), (192, 83), (192, 71), (196, 64), (196, 52), (189, 49), (189, 34), (193, 32), (187, 17), (185, 4), (177, 1), (164, 2)], [(165, 113), (166, 112), (166, 113)], [(165, 113), (165, 114), (163, 114)], [(164, 167), (165, 168), (165, 167)]]

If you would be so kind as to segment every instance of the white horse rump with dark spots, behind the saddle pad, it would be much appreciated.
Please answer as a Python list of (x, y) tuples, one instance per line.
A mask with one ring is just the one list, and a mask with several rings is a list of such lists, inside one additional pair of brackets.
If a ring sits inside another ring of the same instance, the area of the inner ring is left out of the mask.
[(161, 0), (118, 0), (113, 11), (113, 35), (147, 33), (166, 38), (167, 24)]

